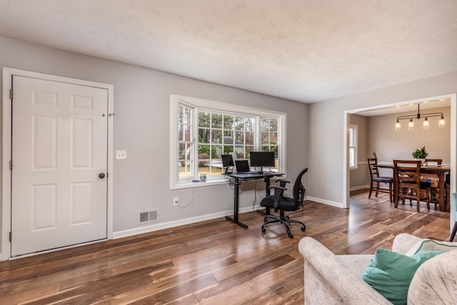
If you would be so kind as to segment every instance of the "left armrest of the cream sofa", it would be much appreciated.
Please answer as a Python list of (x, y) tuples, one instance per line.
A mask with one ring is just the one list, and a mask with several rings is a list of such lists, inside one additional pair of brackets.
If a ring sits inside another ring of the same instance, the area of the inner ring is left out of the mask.
[[(303, 237), (298, 243), (298, 250), (305, 259), (305, 264), (309, 264), (313, 268), (313, 272), (318, 274), (320, 279), (310, 278), (314, 276), (310, 272), (310, 276), (306, 274), (305, 268), (305, 298), (306, 298), (306, 282), (316, 280), (323, 281), (325, 291), (331, 291), (331, 301), (328, 304), (391, 304), (381, 294), (366, 284), (361, 276), (351, 272), (343, 262), (338, 259), (338, 256), (323, 246), (320, 242), (311, 237)], [(326, 293), (323, 292), (323, 293)], [(325, 297), (325, 296), (324, 296)], [(316, 300), (310, 300), (316, 301)]]

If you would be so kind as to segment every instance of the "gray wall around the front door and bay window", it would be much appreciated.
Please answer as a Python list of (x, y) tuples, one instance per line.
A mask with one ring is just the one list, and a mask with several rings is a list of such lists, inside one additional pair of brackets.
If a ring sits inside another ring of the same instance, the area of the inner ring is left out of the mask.
[[(308, 160), (306, 104), (1, 36), (0, 50), (1, 67), (114, 85), (114, 150), (127, 150), (128, 156), (114, 160), (114, 232), (139, 227), (137, 213), (144, 210), (159, 209), (160, 222), (172, 222), (233, 209), (229, 185), (169, 190), (172, 93), (287, 113), (288, 177), (295, 177)], [(250, 187), (243, 187), (241, 207), (250, 207), (253, 196)], [(173, 197), (181, 205), (191, 204), (174, 207)]]

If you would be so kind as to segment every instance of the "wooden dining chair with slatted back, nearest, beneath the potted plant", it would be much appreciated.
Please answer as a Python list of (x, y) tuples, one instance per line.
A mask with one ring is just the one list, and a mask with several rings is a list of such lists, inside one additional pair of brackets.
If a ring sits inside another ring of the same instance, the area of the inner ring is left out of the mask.
[(393, 160), (394, 203), (398, 207), (398, 200), (403, 205), (406, 199), (416, 200), (417, 212), (420, 211), (420, 202), (426, 202), (430, 210), (430, 183), (421, 181), (421, 161)]

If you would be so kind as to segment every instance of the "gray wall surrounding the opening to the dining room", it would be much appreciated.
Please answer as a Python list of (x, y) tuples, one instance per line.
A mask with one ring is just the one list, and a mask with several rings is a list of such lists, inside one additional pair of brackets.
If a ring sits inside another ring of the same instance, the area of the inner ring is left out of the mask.
[[(457, 72), (310, 104), (308, 195), (342, 205), (344, 111), (457, 92)], [(449, 120), (446, 125), (450, 123)]]

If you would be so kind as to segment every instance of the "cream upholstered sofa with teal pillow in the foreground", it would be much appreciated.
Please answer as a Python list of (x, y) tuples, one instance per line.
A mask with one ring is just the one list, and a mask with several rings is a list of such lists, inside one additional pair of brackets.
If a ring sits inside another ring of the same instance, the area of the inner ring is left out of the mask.
[[(421, 239), (398, 234), (392, 250), (405, 254)], [(305, 304), (391, 304), (361, 279), (373, 255), (335, 255), (316, 239), (298, 244), (304, 257)], [(413, 276), (408, 304), (457, 304), (457, 250), (423, 263)]]

